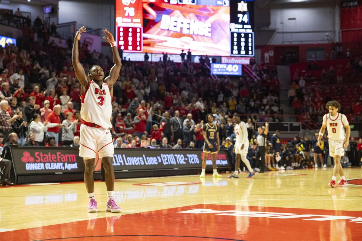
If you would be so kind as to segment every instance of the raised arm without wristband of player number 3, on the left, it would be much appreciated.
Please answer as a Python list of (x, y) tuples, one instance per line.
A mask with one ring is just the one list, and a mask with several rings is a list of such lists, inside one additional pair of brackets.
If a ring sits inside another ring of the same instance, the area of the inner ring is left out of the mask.
[(85, 74), (83, 66), (79, 62), (79, 50), (78, 50), (80, 34), (82, 32), (85, 32), (85, 30), (86, 28), (83, 26), (75, 34), (73, 49), (72, 49), (72, 64), (75, 71), (75, 75), (77, 76), (77, 79), (79, 80), (81, 86), (88, 87), (89, 77)]

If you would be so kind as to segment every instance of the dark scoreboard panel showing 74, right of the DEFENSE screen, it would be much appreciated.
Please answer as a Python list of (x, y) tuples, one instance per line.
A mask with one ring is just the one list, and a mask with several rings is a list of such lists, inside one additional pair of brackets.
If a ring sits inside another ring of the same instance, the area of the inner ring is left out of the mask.
[(230, 2), (230, 56), (254, 56), (254, 1)]

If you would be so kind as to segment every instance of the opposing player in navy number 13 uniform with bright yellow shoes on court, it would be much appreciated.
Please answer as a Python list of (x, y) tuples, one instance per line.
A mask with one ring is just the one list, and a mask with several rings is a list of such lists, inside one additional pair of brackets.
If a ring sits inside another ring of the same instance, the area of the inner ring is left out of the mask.
[(202, 135), (204, 137), (203, 147), (203, 159), (202, 159), (202, 171), (200, 178), (205, 178), (206, 160), (209, 153), (212, 157), (212, 169), (214, 169), (214, 178), (222, 178), (222, 175), (218, 174), (216, 170), (216, 154), (220, 151), (220, 139), (219, 128), (214, 123), (215, 117), (212, 114), (206, 115), (207, 123), (202, 127)]

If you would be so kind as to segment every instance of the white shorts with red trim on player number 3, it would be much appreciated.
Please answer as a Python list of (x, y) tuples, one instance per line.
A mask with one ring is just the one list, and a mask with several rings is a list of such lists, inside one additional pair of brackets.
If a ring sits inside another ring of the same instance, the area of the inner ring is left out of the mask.
[(79, 156), (96, 158), (96, 152), (100, 158), (113, 157), (114, 145), (112, 132), (105, 128), (95, 128), (82, 124), (80, 126)]

